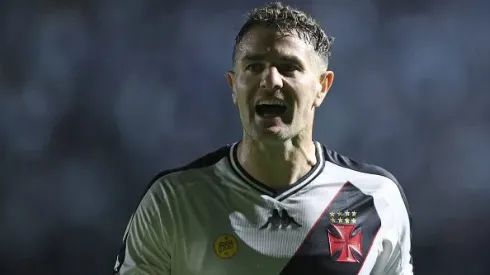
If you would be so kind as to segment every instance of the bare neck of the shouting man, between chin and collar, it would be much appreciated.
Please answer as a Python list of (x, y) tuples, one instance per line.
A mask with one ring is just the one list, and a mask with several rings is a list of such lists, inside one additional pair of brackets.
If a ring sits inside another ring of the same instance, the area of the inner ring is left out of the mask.
[(298, 136), (285, 142), (258, 141), (248, 135), (238, 145), (238, 161), (256, 180), (283, 189), (306, 175), (316, 164), (312, 136)]

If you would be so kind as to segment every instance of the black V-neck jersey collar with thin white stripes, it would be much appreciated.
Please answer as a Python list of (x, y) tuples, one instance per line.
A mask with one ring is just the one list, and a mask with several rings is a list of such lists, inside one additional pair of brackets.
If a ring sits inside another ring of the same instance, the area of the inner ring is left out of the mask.
[(314, 141), (314, 143), (315, 143), (315, 154), (316, 154), (316, 159), (317, 159), (315, 166), (313, 166), (311, 168), (311, 170), (306, 175), (301, 177), (298, 181), (291, 184), (288, 188), (282, 189), (282, 190), (273, 189), (273, 188), (259, 182), (258, 180), (253, 178), (249, 173), (247, 173), (247, 171), (245, 171), (245, 169), (240, 165), (240, 163), (238, 161), (238, 153), (237, 153), (238, 150), (237, 149), (238, 149), (239, 142), (233, 144), (230, 147), (229, 160), (231, 163), (232, 170), (247, 185), (249, 185), (250, 187), (252, 187), (253, 189), (255, 189), (256, 191), (258, 191), (262, 194), (268, 195), (268, 196), (273, 197), (277, 200), (283, 200), (283, 199), (295, 194), (296, 192), (298, 192), (299, 190), (301, 190), (305, 186), (307, 186), (310, 182), (312, 182), (323, 171), (323, 168), (325, 167), (325, 158), (324, 158), (324, 154), (323, 154), (323, 149), (322, 149), (322, 146), (319, 142)]

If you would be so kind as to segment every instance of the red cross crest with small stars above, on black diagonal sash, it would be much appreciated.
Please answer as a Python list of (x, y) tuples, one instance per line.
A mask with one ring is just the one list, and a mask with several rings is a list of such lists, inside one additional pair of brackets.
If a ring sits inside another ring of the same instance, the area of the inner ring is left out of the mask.
[(330, 257), (337, 262), (359, 263), (362, 260), (362, 234), (357, 227), (357, 212), (330, 211), (328, 242)]

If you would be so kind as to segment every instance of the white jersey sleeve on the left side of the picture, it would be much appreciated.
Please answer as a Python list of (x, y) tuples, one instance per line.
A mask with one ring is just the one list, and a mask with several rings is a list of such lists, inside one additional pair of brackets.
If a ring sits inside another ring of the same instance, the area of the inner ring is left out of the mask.
[(117, 275), (170, 274), (170, 237), (164, 222), (164, 201), (150, 188), (132, 215), (117, 255)]

